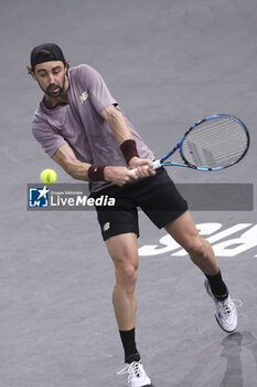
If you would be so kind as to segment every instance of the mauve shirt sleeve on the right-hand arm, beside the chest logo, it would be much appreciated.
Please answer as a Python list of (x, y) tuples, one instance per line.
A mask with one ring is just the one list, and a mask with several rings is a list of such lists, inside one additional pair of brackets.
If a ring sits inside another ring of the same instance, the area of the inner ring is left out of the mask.
[(109, 105), (118, 105), (117, 101), (110, 95), (110, 92), (103, 76), (88, 64), (82, 65), (82, 79), (97, 113), (104, 111)]

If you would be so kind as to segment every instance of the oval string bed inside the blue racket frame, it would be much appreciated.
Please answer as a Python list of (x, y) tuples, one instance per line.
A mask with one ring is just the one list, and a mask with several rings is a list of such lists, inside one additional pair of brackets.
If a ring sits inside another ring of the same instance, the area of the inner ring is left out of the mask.
[(246, 151), (247, 134), (232, 118), (202, 122), (186, 135), (182, 153), (191, 165), (218, 168), (237, 163)]

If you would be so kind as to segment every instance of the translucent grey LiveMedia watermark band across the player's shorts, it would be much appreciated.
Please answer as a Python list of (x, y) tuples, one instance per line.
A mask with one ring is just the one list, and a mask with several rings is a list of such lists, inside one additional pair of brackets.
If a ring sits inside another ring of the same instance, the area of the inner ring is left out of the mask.
[[(191, 211), (253, 211), (254, 184), (176, 184)], [(116, 186), (117, 187), (117, 186)], [(159, 189), (159, 187), (158, 187)], [(118, 191), (118, 190), (117, 190)], [(161, 198), (159, 198), (161, 199)], [(158, 211), (160, 200), (149, 210)], [(117, 205), (117, 206), (116, 206)], [(88, 184), (28, 184), (29, 211), (90, 211), (96, 207), (118, 211), (119, 199), (90, 196)], [(163, 206), (161, 206), (163, 211)], [(167, 209), (169, 210), (169, 209)]]

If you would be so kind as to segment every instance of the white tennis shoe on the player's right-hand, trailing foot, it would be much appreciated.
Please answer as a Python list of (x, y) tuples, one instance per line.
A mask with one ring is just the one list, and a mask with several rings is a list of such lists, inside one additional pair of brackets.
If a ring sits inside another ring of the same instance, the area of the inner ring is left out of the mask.
[(224, 301), (218, 301), (210, 286), (210, 282), (205, 280), (204, 282), (205, 289), (207, 291), (207, 294), (213, 299), (216, 312), (215, 312), (215, 318), (221, 326), (221, 328), (227, 333), (232, 333), (236, 331), (237, 327), (237, 310), (236, 305), (232, 301), (229, 294)]

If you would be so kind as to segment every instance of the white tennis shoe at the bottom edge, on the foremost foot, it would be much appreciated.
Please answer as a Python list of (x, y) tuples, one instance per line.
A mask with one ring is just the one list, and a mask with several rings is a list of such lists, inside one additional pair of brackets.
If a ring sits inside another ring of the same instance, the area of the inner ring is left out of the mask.
[(128, 375), (128, 387), (147, 387), (152, 386), (150, 378), (143, 369), (141, 360), (127, 364), (117, 375)]

